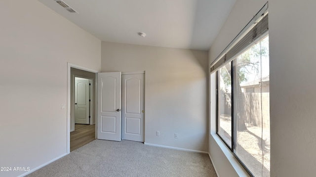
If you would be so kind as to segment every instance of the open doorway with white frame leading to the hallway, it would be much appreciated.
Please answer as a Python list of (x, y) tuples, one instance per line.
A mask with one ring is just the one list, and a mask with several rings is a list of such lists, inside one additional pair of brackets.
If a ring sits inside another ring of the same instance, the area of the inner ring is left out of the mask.
[(96, 71), (68, 64), (67, 153), (96, 138)]

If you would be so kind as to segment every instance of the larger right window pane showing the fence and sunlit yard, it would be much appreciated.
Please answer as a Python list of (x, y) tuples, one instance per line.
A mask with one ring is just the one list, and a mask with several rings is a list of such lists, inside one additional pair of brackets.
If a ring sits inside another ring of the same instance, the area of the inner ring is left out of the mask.
[(255, 177), (269, 177), (268, 36), (234, 59), (234, 75), (234, 152)]

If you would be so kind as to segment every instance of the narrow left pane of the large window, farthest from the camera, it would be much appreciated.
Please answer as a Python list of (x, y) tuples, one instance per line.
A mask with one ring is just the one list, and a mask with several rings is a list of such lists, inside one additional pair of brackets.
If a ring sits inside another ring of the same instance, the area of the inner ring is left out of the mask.
[(232, 78), (231, 63), (218, 71), (217, 133), (232, 147)]

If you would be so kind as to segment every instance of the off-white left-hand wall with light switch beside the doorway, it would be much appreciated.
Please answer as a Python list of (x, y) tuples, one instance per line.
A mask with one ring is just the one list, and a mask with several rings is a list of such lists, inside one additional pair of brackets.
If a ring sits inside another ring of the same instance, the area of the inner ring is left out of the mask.
[(66, 154), (67, 62), (100, 70), (101, 41), (37, 0), (1, 0), (0, 22), (0, 166), (33, 170)]

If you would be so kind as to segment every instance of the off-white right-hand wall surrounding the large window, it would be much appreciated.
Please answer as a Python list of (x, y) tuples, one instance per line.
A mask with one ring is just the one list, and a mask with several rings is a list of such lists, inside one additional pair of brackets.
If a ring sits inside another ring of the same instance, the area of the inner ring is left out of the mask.
[[(210, 49), (210, 62), (264, 3), (237, 0)], [(311, 0), (269, 2), (271, 177), (316, 173), (315, 6)], [(212, 135), (209, 152), (219, 177), (237, 177)]]

